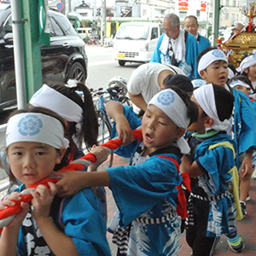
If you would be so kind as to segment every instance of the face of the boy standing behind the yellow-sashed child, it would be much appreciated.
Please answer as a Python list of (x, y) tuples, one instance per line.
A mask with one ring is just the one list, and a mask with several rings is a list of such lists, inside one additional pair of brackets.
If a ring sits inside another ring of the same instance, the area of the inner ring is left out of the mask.
[(200, 74), (202, 79), (207, 81), (207, 84), (224, 86), (229, 76), (228, 63), (226, 61), (214, 61), (206, 70), (202, 70)]

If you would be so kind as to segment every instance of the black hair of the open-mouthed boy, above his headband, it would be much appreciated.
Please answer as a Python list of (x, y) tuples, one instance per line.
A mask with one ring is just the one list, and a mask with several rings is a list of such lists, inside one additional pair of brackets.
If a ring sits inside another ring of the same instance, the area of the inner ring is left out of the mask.
[(189, 125), (191, 125), (192, 123), (195, 123), (198, 119), (198, 108), (195, 102), (192, 102), (190, 100), (189, 95), (185, 91), (179, 89), (177, 86), (169, 86), (168, 89), (174, 90), (177, 93), (177, 95), (183, 100), (186, 107), (188, 108), (187, 117), (190, 119)]

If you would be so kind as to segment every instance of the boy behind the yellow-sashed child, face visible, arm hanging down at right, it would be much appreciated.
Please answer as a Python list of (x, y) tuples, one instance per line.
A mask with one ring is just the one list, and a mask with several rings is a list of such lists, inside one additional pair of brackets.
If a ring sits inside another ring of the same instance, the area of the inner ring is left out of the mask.
[[(253, 147), (256, 146), (256, 115), (248, 97), (226, 84), (228, 80), (228, 59), (220, 49), (207, 48), (197, 57), (198, 72), (207, 84), (217, 84), (229, 90), (235, 97), (235, 107), (228, 134), (235, 139), (236, 166), (241, 178), (240, 200), (245, 201), (250, 189), (250, 177), (253, 171)], [(244, 212), (246, 214), (246, 212)]]

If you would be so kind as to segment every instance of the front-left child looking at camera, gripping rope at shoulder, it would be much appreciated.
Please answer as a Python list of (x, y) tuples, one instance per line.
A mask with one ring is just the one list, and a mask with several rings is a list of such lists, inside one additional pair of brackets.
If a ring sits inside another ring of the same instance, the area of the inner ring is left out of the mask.
[[(10, 172), (23, 184), (0, 208), (20, 200), (23, 189), (67, 165), (68, 146), (64, 120), (46, 108), (15, 112), (6, 131)], [(99, 159), (101, 153), (97, 154)], [(94, 166), (96, 168), (96, 166)], [(57, 188), (38, 185), (32, 206), (22, 202), (22, 212), (3, 228), (0, 254), (12, 255), (109, 255), (105, 224), (91, 189), (61, 200)]]

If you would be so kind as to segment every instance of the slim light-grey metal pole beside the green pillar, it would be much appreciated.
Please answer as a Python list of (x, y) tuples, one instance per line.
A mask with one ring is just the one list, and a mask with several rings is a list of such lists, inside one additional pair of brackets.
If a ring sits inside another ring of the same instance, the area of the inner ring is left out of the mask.
[(25, 63), (22, 30), (23, 24), (27, 22), (27, 20), (21, 19), (21, 2), (22, 1), (20, 0), (11, 1), (14, 35), (16, 95), (19, 109), (26, 107)]

